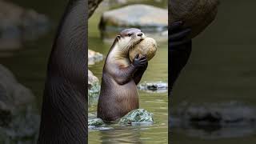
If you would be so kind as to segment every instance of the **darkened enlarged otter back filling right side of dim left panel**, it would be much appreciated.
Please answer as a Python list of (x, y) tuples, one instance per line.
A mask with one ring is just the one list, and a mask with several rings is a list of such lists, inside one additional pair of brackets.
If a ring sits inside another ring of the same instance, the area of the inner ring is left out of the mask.
[(70, 0), (50, 54), (38, 144), (87, 143), (87, 14)]

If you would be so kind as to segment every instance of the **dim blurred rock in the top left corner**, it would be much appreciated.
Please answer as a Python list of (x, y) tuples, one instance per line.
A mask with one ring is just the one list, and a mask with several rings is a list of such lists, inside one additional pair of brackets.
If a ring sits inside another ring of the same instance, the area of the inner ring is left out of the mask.
[(49, 27), (45, 15), (0, 0), (0, 51), (17, 50), (23, 41), (38, 38)]

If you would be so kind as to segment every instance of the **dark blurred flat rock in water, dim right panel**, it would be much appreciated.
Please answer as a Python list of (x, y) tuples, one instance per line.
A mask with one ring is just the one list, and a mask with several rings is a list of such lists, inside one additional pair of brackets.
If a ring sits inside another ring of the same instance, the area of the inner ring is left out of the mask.
[(199, 126), (256, 124), (256, 108), (238, 102), (182, 105), (177, 108), (174, 114), (183, 122)]

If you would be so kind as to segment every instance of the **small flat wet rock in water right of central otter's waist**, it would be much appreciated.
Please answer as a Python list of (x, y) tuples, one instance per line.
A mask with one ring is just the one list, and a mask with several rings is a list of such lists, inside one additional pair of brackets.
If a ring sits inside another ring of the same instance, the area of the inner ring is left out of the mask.
[(150, 93), (166, 93), (168, 84), (165, 82), (142, 82), (138, 85), (138, 89)]

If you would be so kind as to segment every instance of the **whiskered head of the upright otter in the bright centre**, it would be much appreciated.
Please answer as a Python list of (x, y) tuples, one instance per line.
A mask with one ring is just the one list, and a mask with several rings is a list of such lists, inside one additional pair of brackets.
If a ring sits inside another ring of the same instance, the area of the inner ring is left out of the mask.
[(130, 28), (122, 30), (117, 36), (118, 48), (123, 54), (128, 54), (129, 50), (145, 38), (141, 30)]

